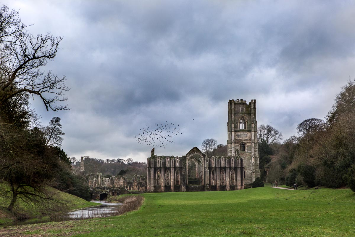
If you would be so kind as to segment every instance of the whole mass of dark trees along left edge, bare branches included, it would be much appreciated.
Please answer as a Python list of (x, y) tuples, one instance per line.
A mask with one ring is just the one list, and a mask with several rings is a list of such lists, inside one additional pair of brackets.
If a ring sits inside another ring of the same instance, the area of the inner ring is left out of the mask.
[(65, 76), (41, 71), (59, 49), (60, 36), (32, 35), (18, 11), (0, 7), (0, 196), (7, 209), (17, 214), (24, 205), (53, 210), (58, 190), (88, 198), (82, 177), (72, 174), (70, 159), (61, 149), (60, 118), (49, 125), (39, 122), (29, 98), (38, 97), (47, 110), (60, 111), (66, 105)]

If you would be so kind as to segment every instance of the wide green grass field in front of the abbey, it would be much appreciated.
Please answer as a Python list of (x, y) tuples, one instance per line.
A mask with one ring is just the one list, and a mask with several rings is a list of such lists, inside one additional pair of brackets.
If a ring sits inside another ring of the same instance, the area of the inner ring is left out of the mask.
[(0, 236), (355, 236), (355, 193), (349, 189), (263, 187), (144, 197), (140, 210), (122, 216), (7, 227)]

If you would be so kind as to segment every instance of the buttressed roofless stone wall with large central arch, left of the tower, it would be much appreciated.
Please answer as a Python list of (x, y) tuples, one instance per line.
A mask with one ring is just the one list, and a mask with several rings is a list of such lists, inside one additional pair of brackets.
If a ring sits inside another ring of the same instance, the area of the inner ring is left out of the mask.
[(197, 147), (182, 157), (156, 156), (153, 152), (147, 158), (147, 192), (244, 189), (244, 162), (240, 156), (206, 157)]

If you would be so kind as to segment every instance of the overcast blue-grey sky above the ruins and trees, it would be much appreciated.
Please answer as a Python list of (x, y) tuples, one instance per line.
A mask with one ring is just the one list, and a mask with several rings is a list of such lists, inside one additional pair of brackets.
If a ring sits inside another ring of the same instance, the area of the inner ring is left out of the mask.
[(63, 36), (45, 71), (66, 75), (61, 118), (72, 157), (146, 161), (140, 129), (185, 126), (157, 155), (226, 144), (228, 100), (256, 99), (258, 124), (284, 138), (323, 119), (355, 77), (354, 1), (1, 1), (31, 33)]

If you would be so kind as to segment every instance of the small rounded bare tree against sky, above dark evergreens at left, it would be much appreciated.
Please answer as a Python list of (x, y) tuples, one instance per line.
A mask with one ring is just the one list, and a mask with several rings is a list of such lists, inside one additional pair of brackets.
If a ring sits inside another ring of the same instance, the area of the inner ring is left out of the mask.
[(46, 140), (46, 146), (61, 146), (63, 138), (61, 136), (65, 135), (62, 131), (62, 125), (60, 124), (59, 117), (53, 117), (49, 121), (49, 125), (44, 129), (44, 137)]

